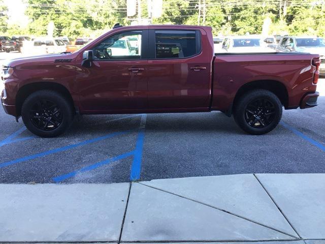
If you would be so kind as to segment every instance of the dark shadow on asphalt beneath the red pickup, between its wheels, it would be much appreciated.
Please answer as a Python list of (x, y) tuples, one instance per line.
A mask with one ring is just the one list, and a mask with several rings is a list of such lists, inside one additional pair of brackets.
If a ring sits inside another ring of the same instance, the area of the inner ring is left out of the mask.
[[(99, 134), (107, 133), (108, 130), (138, 129), (141, 114), (127, 116), (129, 115), (83, 115), (79, 120), (75, 119), (68, 133)], [(147, 114), (145, 131), (171, 133), (202, 131), (247, 135), (236, 125), (233, 117), (228, 117), (222, 112)]]

